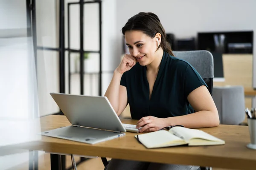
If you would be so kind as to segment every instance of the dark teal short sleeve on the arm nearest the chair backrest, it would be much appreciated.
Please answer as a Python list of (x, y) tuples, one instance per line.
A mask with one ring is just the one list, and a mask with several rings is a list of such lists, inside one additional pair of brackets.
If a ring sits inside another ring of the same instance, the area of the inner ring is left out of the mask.
[(184, 81), (184, 91), (186, 97), (196, 88), (207, 84), (204, 82), (204, 79), (200, 76), (200, 74), (192, 67), (192, 65), (188, 65), (185, 73), (185, 81)]

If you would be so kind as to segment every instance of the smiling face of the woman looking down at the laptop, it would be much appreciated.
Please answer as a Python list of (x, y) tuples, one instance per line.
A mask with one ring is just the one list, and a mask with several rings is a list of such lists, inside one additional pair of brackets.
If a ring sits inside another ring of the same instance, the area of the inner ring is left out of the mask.
[(130, 54), (136, 57), (140, 65), (148, 65), (154, 60), (156, 38), (148, 37), (142, 31), (132, 30), (125, 32), (125, 41)]

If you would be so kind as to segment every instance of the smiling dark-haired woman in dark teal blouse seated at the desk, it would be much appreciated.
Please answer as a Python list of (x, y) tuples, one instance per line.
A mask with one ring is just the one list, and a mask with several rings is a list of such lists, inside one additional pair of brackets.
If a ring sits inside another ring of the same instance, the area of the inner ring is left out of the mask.
[[(140, 132), (170, 125), (188, 128), (219, 125), (218, 111), (207, 85), (186, 61), (173, 57), (157, 15), (140, 12), (122, 28), (130, 54), (116, 68), (106, 91), (118, 115), (130, 104), (131, 118)], [(190, 114), (189, 104), (195, 110)], [(186, 165), (112, 159), (108, 170), (186, 170)], [(191, 169), (191, 170), (192, 170)]]

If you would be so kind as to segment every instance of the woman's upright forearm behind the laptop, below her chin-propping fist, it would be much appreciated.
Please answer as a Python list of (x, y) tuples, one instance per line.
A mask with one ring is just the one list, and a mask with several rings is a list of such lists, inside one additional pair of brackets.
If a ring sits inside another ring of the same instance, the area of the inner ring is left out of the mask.
[(108, 97), (108, 100), (116, 113), (119, 109), (119, 87), (121, 77), (122, 74), (115, 70), (110, 85), (108, 86), (108, 89), (105, 93), (105, 96)]

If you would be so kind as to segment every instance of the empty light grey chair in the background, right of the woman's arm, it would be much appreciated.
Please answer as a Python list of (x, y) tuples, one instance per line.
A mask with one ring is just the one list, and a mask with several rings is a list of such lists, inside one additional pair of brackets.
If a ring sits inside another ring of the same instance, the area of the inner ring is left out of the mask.
[(212, 98), (218, 109), (220, 124), (240, 125), (245, 118), (244, 87), (214, 87)]

